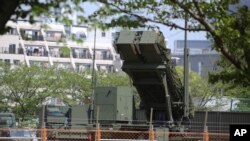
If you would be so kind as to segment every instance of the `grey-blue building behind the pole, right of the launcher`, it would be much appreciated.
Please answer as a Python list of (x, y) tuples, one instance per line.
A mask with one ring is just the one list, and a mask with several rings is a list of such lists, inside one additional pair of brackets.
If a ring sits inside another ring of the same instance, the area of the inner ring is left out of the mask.
[[(184, 40), (176, 40), (172, 56), (179, 58), (176, 63), (179, 66), (184, 64)], [(187, 40), (189, 49), (189, 69), (197, 72), (201, 77), (207, 77), (208, 72), (217, 70), (217, 63), (220, 53), (212, 49), (212, 42), (209, 40)]]

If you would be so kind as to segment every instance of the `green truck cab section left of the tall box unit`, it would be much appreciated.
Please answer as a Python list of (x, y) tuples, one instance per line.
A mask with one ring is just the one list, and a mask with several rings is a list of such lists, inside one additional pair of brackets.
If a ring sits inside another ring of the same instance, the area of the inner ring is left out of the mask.
[[(44, 105), (39, 108), (38, 128), (59, 129), (47, 132), (48, 140), (75, 140), (88, 139), (87, 130), (93, 127), (90, 120), (90, 105)], [(81, 130), (79, 130), (81, 129)], [(75, 130), (75, 132), (68, 132)], [(79, 131), (77, 131), (79, 130)], [(38, 132), (37, 136), (41, 136)]]

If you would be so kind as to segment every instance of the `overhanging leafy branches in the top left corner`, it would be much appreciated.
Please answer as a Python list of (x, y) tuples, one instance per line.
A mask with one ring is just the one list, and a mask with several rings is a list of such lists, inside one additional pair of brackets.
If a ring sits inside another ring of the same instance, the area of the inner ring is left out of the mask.
[[(85, 1), (85, 0), (83, 0)], [(66, 25), (72, 24), (72, 13), (84, 13), (81, 6), (81, 0), (1, 0), (0, 1), (0, 34), (5, 33), (8, 28), (6, 23), (26, 19), (31, 23), (40, 20), (40, 16), (54, 17)], [(63, 13), (56, 16), (56, 10), (62, 10)], [(80, 17), (84, 21), (83, 17)]]

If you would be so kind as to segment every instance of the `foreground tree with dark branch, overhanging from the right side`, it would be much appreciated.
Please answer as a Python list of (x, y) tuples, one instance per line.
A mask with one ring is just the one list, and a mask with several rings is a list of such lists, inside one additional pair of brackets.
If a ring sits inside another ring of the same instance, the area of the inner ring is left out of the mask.
[[(162, 24), (171, 29), (190, 32), (207, 32), (214, 42), (213, 48), (224, 56), (238, 74), (250, 84), (250, 12), (240, 6), (239, 0), (105, 0), (103, 5), (89, 16), (100, 27), (140, 27), (151, 23)], [(235, 4), (236, 10), (229, 6)], [(108, 19), (108, 20), (105, 20)], [(187, 19), (187, 26), (177, 20)], [(105, 25), (105, 26), (104, 26)], [(233, 77), (233, 79), (237, 79)], [(237, 84), (235, 84), (237, 85)]]

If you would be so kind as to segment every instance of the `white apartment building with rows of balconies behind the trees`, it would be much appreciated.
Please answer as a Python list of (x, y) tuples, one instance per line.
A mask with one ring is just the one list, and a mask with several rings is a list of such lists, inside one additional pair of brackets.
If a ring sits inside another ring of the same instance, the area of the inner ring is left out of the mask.
[[(24, 21), (8, 22), (7, 26), (11, 30), (0, 36), (0, 60), (11, 65), (56, 65), (84, 71), (92, 68), (95, 54), (96, 70), (113, 72), (121, 66), (119, 56), (112, 46), (115, 30), (95, 31), (87, 26), (30, 24)], [(83, 42), (71, 40), (71, 37)], [(70, 53), (65, 55), (65, 49)]]

